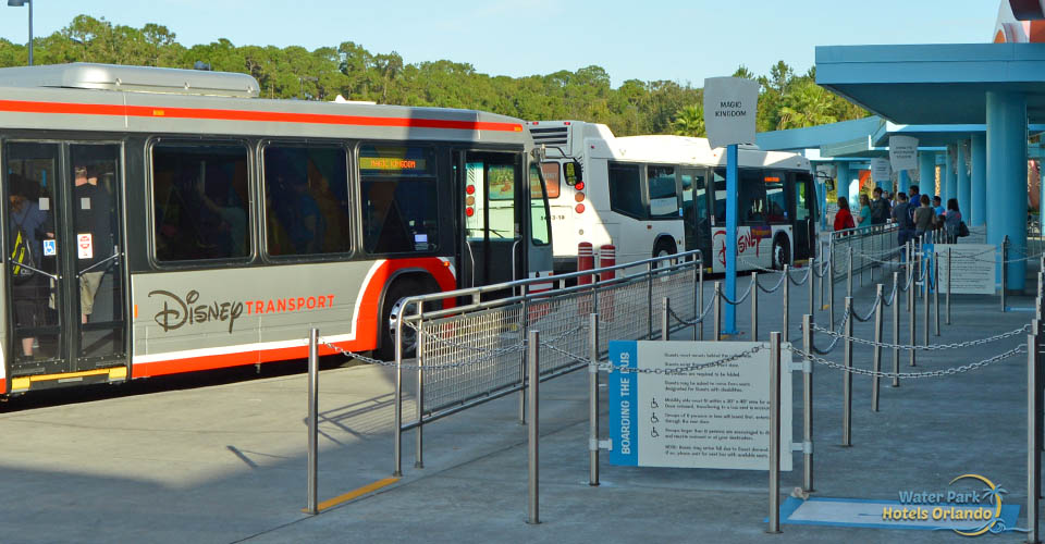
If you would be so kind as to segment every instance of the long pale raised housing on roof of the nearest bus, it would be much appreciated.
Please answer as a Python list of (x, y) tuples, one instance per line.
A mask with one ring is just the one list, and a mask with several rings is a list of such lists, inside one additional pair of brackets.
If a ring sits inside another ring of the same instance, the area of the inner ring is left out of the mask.
[(259, 89), (258, 81), (247, 74), (86, 62), (0, 69), (0, 86), (239, 98), (257, 97)]

